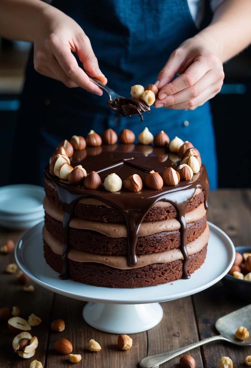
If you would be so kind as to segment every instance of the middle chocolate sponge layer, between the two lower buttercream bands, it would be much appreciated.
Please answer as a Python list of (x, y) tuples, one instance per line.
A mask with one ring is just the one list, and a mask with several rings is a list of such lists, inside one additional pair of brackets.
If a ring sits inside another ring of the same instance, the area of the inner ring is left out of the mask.
[[(63, 223), (45, 214), (45, 226), (49, 233), (63, 243)], [(197, 239), (205, 230), (206, 215), (195, 222), (187, 224), (186, 243)], [(98, 254), (121, 255), (128, 252), (126, 237), (108, 237), (97, 231), (74, 229), (69, 227), (68, 245), (73, 248)], [(162, 252), (178, 248), (181, 245), (180, 229), (174, 231), (162, 231), (149, 236), (138, 237), (136, 254)]]

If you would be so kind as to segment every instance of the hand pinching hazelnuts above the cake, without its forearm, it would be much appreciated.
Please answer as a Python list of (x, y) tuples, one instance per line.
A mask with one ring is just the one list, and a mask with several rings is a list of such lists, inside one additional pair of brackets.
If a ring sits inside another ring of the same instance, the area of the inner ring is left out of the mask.
[[(178, 77), (173, 79), (176, 74)], [(220, 92), (223, 79), (223, 65), (216, 50), (195, 36), (174, 50), (159, 72), (154, 106), (194, 110)]]

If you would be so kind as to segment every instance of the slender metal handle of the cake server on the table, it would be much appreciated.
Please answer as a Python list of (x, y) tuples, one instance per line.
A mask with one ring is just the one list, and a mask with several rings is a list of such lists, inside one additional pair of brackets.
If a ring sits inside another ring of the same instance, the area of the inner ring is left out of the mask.
[(207, 339), (198, 341), (197, 343), (193, 343), (191, 345), (178, 348), (176, 350), (169, 351), (168, 353), (162, 353), (158, 355), (151, 355), (150, 357), (145, 357), (141, 359), (139, 362), (139, 367), (141, 368), (158, 368), (160, 364), (163, 364), (167, 362), (168, 360), (177, 357), (177, 355), (180, 355), (182, 353), (185, 353), (188, 350), (192, 350), (195, 347), (201, 346), (203, 344), (209, 343), (211, 341), (215, 340), (226, 340), (228, 342), (231, 342), (229, 339), (226, 339), (226, 337), (222, 335), (216, 335), (208, 337)]

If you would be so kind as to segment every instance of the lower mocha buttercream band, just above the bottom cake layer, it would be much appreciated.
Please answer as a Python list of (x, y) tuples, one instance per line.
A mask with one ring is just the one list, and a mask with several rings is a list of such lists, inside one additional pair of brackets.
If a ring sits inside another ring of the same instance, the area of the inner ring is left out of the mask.
[[(51, 234), (46, 230), (45, 226), (43, 227), (43, 239), (50, 246), (53, 253), (58, 255), (62, 254), (63, 244), (53, 238)], [(205, 245), (208, 243), (208, 239), (209, 226), (207, 225), (204, 233), (201, 236), (186, 245), (188, 256), (200, 252), (202, 248), (204, 248)], [(70, 248), (67, 254), (67, 258), (76, 262), (102, 263), (106, 266), (119, 269), (131, 268), (130, 266), (128, 266), (126, 256), (99, 255)], [(180, 249), (172, 249), (166, 252), (140, 255), (138, 256), (137, 265), (135, 265), (134, 268), (140, 268), (154, 263), (169, 263), (177, 261), (178, 259), (184, 259), (184, 256)]]

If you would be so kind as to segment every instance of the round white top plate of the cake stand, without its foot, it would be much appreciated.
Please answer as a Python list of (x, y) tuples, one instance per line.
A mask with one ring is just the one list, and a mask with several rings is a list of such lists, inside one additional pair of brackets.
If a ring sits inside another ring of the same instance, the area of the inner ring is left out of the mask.
[(174, 300), (205, 290), (222, 279), (235, 258), (233, 242), (221, 229), (208, 222), (210, 238), (204, 264), (187, 280), (176, 280), (158, 286), (118, 289), (60, 280), (43, 256), (42, 228), (44, 222), (26, 231), (17, 243), (15, 258), (18, 266), (34, 282), (55, 293), (91, 302), (142, 304)]

